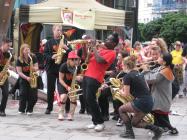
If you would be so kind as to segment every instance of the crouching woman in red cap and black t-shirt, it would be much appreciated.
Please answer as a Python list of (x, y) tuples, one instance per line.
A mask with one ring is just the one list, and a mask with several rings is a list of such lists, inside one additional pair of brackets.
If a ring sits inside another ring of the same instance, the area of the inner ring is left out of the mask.
[[(75, 51), (71, 51), (68, 54), (67, 62), (63, 63), (60, 66), (59, 70), (59, 81), (57, 82), (58, 92), (60, 94), (60, 106), (59, 106), (59, 113), (58, 113), (58, 120), (64, 120), (64, 110), (65, 110), (65, 103), (68, 98), (68, 93), (74, 90), (75, 80), (80, 81), (81, 76), (77, 76), (76, 73), (80, 73), (80, 67), (77, 67), (79, 64), (79, 57), (77, 56)], [(73, 84), (72, 84), (73, 82)], [(76, 100), (71, 100), (70, 98), (70, 111), (68, 113), (67, 119), (69, 121), (73, 120), (75, 108), (77, 106)], [(73, 97), (75, 98), (75, 97)]]

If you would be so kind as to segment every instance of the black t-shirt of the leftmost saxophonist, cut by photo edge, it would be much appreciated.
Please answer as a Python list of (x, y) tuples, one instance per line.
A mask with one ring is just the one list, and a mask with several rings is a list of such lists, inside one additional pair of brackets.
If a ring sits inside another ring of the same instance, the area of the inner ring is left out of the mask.
[[(3, 70), (9, 58), (10, 58), (10, 54), (8, 52), (3, 53), (0, 49), (0, 71)], [(13, 57), (11, 59), (11, 62), (12, 61), (14, 61)]]

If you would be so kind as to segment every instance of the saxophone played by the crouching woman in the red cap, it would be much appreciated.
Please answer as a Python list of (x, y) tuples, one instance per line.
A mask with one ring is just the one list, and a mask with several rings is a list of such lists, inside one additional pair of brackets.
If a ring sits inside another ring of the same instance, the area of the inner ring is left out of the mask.
[(77, 92), (80, 89), (80, 86), (76, 84), (76, 76), (77, 76), (77, 66), (75, 67), (75, 71), (73, 73), (73, 78), (71, 82), (71, 90), (68, 92), (68, 96), (71, 102), (76, 102), (77, 100)]

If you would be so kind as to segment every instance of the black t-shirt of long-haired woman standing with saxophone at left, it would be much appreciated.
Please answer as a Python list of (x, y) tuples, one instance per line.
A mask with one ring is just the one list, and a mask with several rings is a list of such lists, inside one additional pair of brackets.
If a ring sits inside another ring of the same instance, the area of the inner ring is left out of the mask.
[[(33, 59), (33, 65), (37, 63), (37, 59), (35, 56), (32, 56), (32, 59)], [(23, 74), (25, 74), (26, 76), (30, 75), (30, 60), (28, 63), (26, 63), (25, 61), (23, 61), (22, 63), (20, 59), (18, 59), (16, 62), (16, 66), (21, 67)]]

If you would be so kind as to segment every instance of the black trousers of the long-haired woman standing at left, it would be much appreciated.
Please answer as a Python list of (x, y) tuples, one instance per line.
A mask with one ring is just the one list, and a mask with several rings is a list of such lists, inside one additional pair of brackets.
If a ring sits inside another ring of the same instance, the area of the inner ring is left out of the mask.
[(20, 112), (33, 112), (34, 105), (38, 99), (38, 93), (36, 88), (31, 88), (28, 81), (20, 79), (20, 100), (19, 111)]

